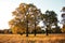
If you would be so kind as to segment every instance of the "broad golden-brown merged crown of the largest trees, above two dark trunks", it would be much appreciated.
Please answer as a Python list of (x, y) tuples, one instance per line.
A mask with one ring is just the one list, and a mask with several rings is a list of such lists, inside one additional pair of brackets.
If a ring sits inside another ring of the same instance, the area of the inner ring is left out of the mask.
[(21, 3), (12, 13), (15, 17), (9, 22), (9, 25), (13, 33), (26, 32), (27, 28), (31, 33), (38, 27), (42, 14), (34, 4), (25, 3)]

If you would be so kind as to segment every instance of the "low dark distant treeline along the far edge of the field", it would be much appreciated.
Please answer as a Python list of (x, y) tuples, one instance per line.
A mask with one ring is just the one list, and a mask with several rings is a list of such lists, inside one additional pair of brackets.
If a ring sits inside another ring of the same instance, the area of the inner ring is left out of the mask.
[[(46, 33), (46, 32), (47, 32), (46, 30), (36, 30), (36, 33)], [(1, 33), (2, 34), (13, 34), (11, 29), (0, 30), (0, 34)], [(17, 34), (25, 34), (25, 33), (26, 33), (25, 31), (24, 32), (17, 32)], [(35, 30), (31, 32), (28, 31), (28, 33), (29, 34), (35, 33)], [(63, 32), (62, 32), (61, 28), (57, 28), (57, 30), (54, 30), (54, 29), (48, 30), (48, 33), (63, 33)]]

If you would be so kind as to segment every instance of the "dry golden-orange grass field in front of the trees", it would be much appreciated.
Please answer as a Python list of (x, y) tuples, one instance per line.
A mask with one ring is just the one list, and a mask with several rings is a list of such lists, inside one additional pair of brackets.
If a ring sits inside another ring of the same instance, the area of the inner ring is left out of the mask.
[(0, 34), (0, 43), (65, 43), (65, 34)]

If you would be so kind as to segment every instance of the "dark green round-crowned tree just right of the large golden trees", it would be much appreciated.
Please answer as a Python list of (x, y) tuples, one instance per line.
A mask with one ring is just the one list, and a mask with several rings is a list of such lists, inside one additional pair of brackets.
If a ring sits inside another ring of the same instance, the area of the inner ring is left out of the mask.
[(48, 32), (51, 33), (52, 26), (54, 26), (55, 28), (54, 30), (56, 32), (58, 20), (57, 20), (57, 14), (54, 11), (47, 11), (46, 14), (42, 14), (41, 19), (43, 20), (43, 24), (47, 27), (46, 28), (47, 34)]

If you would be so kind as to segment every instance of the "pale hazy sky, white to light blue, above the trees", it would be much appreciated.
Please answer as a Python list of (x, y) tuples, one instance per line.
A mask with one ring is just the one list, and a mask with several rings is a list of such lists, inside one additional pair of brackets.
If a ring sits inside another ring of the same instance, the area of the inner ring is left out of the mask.
[(0, 29), (8, 29), (8, 22), (13, 18), (12, 12), (20, 3), (32, 3), (44, 13), (53, 10), (61, 20), (61, 9), (65, 6), (65, 0), (0, 0)]

